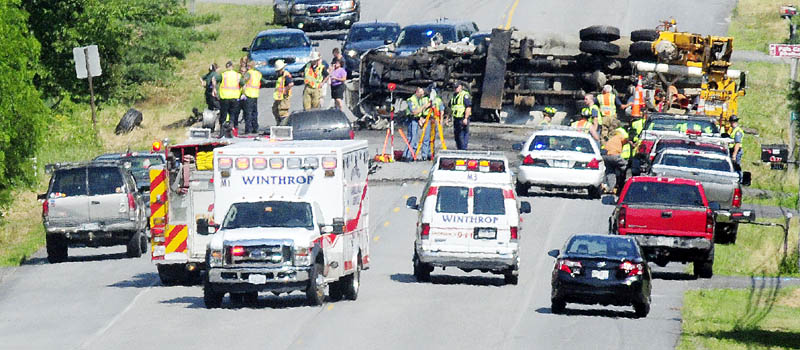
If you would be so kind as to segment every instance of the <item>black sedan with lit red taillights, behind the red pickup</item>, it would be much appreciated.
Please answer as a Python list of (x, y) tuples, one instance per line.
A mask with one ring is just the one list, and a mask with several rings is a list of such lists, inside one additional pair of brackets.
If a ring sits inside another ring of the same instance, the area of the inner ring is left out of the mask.
[(551, 311), (567, 303), (632, 305), (637, 317), (650, 312), (650, 268), (636, 240), (623, 236), (577, 234), (564, 250), (551, 250)]

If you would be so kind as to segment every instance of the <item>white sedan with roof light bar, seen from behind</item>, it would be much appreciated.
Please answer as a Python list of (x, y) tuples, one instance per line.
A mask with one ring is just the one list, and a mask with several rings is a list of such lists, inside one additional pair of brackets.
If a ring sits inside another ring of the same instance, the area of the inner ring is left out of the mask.
[(517, 195), (526, 195), (531, 186), (586, 189), (591, 198), (602, 194), (606, 167), (600, 146), (589, 134), (564, 129), (536, 131), (522, 144), (519, 157)]

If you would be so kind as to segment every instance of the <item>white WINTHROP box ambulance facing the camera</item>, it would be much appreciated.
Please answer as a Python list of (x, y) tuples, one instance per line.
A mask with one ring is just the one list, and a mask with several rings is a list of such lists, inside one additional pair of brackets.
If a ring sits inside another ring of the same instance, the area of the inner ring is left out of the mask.
[(249, 141), (214, 150), (207, 307), (304, 291), (355, 300), (369, 267), (366, 140)]

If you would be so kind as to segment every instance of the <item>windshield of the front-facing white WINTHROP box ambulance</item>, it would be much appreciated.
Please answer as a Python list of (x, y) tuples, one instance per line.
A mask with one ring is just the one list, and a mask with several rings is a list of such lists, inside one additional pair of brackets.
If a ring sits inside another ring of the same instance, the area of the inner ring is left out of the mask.
[(313, 217), (311, 205), (304, 202), (234, 203), (228, 209), (222, 227), (302, 227), (311, 230), (314, 228)]

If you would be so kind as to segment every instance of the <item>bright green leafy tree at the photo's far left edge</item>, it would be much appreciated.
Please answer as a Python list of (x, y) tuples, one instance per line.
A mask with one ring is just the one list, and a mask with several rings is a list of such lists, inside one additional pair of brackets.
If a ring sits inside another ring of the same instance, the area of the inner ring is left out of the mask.
[(9, 202), (11, 189), (35, 180), (31, 158), (47, 116), (33, 84), (40, 47), (27, 18), (20, 0), (0, 1), (0, 203)]

